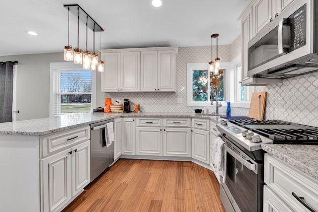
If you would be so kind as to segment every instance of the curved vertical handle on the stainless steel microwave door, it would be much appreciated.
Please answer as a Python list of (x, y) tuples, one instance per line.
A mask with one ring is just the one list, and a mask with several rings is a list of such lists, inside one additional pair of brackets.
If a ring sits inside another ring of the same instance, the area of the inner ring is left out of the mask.
[(282, 18), (278, 25), (278, 55), (285, 55), (290, 48), (290, 25), (284, 23), (287, 18)]

